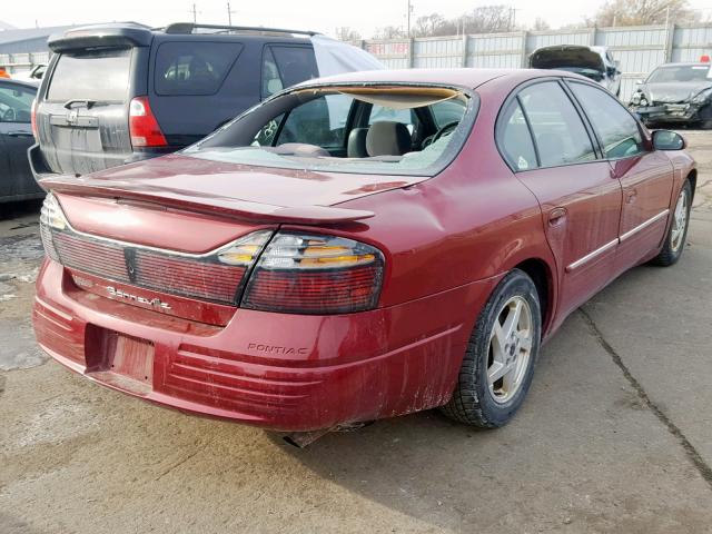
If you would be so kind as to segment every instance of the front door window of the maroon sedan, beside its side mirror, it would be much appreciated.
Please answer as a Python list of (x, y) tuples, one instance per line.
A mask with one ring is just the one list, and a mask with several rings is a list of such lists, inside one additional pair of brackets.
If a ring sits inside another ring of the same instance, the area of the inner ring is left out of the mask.
[(596, 130), (606, 158), (630, 158), (645, 151), (637, 122), (609, 93), (584, 83), (571, 88)]

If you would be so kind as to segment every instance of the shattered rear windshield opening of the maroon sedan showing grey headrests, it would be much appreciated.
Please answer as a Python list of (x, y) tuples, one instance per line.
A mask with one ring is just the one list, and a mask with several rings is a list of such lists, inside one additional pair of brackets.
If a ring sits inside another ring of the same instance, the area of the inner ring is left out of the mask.
[(438, 87), (303, 89), (253, 108), (182, 154), (332, 172), (434, 176), (459, 151), (477, 101)]

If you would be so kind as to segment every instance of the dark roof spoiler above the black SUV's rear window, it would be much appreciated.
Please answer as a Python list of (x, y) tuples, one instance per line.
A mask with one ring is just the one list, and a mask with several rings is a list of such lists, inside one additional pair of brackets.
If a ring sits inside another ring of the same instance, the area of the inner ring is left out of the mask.
[(154, 33), (142, 24), (85, 26), (50, 36), (47, 46), (55, 53), (85, 48), (148, 47)]

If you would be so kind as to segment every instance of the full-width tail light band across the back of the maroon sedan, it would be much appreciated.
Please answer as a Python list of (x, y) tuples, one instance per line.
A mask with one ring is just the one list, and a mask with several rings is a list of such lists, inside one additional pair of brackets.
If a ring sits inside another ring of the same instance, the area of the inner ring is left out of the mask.
[(264, 229), (202, 255), (160, 250), (76, 231), (51, 192), (40, 235), (47, 256), (71, 269), (265, 312), (365, 312), (377, 306), (383, 283), (380, 250), (353, 239)]

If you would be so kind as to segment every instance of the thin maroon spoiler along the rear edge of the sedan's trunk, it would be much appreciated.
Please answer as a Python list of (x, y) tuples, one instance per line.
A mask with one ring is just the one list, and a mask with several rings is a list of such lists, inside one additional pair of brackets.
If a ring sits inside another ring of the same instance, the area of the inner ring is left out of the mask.
[[(330, 206), (273, 206), (220, 196), (196, 196), (192, 191), (155, 187), (152, 190), (131, 189), (130, 184), (88, 177), (55, 175), (40, 181), (47, 191), (82, 197), (102, 197), (138, 200), (174, 208), (215, 214), (256, 222), (290, 222), (300, 225), (329, 225), (368, 219), (372, 211)], [(145, 186), (144, 186), (145, 187)]]

